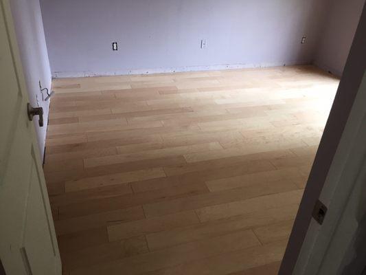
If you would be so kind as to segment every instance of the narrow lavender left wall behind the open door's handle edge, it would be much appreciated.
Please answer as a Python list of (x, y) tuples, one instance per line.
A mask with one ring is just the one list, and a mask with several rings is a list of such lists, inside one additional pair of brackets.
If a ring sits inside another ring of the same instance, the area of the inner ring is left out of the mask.
[[(30, 103), (34, 107), (37, 105), (43, 107), (43, 118), (47, 125), (49, 102), (42, 100), (38, 81), (41, 80), (43, 87), (50, 89), (52, 79), (39, 0), (12, 0), (10, 2)], [(34, 126), (43, 156), (46, 126), (40, 128), (38, 119), (34, 121)]]

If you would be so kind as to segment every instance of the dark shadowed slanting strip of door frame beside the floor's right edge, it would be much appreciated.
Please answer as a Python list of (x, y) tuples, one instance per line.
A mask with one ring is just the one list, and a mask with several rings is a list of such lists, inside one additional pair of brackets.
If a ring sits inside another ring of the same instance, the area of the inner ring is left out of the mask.
[(317, 203), (317, 200), (321, 196), (325, 180), (330, 176), (332, 162), (365, 74), (365, 31), (366, 5), (363, 7), (341, 83), (334, 98), (323, 137), (321, 137), (308, 184), (304, 190), (304, 196), (301, 200), (293, 230), (290, 234), (290, 240), (279, 270), (280, 275), (294, 274), (295, 265), (299, 259), (301, 248), (304, 245), (306, 234), (308, 234), (312, 222), (312, 211), (315, 203)]

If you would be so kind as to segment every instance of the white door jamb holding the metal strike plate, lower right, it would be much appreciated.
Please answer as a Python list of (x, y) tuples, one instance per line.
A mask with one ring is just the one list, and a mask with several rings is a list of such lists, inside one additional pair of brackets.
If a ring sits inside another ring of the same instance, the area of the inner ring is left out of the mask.
[(322, 225), (311, 221), (293, 274), (341, 274), (361, 256), (358, 237), (366, 230), (365, 102), (366, 72), (319, 197), (328, 212)]

